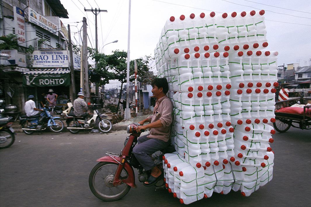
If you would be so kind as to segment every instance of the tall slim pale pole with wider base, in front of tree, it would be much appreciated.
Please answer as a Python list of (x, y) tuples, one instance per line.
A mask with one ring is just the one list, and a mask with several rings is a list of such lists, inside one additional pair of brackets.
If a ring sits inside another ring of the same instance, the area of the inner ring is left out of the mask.
[(126, 109), (124, 113), (124, 119), (131, 119), (131, 110), (129, 108), (129, 92), (130, 92), (130, 32), (131, 32), (131, 0), (128, 3), (128, 62), (126, 67)]

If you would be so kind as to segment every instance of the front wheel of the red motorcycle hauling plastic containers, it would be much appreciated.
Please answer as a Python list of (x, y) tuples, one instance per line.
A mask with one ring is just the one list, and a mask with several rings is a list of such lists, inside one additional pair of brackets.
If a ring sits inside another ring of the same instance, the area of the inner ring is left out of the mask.
[[(113, 186), (114, 174), (118, 164), (111, 162), (100, 162), (95, 165), (89, 176), (89, 186), (97, 198), (104, 201), (115, 201), (123, 198), (131, 189), (126, 183), (116, 187)], [(128, 177), (128, 171), (123, 168), (120, 178)]]

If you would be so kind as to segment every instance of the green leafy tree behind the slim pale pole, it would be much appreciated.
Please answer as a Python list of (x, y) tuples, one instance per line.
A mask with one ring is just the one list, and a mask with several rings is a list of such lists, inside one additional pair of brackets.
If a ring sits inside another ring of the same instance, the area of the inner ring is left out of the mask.
[[(112, 55), (105, 55), (102, 53), (94, 53), (93, 59), (97, 61), (97, 68), (95, 71), (102, 75), (105, 82), (109, 80), (117, 79), (121, 83), (121, 91), (119, 95), (119, 101), (117, 111), (120, 106), (120, 99), (123, 90), (123, 83), (126, 83), (126, 69), (127, 69), (127, 52), (115, 50)], [(137, 62), (137, 80), (150, 83), (153, 75), (149, 72), (150, 56), (145, 56), (136, 59)], [(135, 79), (134, 61), (130, 61), (130, 80)], [(107, 83), (108, 83), (107, 82)]]

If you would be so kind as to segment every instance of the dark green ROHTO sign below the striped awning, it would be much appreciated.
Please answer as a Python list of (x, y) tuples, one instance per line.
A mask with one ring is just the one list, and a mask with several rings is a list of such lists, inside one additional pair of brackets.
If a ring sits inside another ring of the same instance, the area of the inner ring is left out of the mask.
[(24, 74), (24, 86), (69, 86), (70, 73), (66, 74)]

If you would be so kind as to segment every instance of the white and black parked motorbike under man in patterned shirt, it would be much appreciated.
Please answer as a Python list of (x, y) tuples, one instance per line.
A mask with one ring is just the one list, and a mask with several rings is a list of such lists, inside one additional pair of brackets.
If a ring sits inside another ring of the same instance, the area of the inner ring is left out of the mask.
[[(92, 129), (94, 127), (97, 127), (102, 133), (108, 133), (111, 130), (111, 122), (105, 119), (108, 116), (100, 114), (95, 104), (90, 105), (89, 108), (93, 109), (93, 116), (89, 120), (75, 116), (73, 112), (66, 114), (67, 129), (70, 133), (77, 134), (82, 129)], [(71, 109), (73, 109), (73, 107), (71, 107)]]

